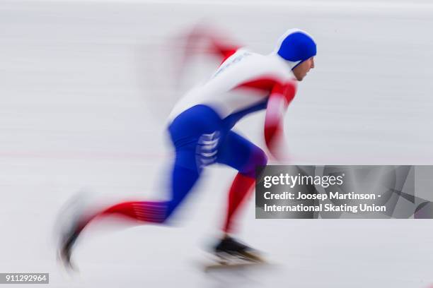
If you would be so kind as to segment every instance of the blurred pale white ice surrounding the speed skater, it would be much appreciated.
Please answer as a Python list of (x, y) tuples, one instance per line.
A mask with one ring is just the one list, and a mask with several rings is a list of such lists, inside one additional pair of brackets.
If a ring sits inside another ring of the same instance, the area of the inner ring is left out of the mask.
[[(49, 287), (433, 287), (433, 220), (255, 220), (253, 199), (239, 237), (272, 265), (205, 274), (235, 175), (218, 166), (173, 228), (83, 234), (75, 275), (53, 235), (80, 189), (166, 196), (173, 36), (198, 21), (260, 53), (288, 28), (314, 35), (316, 68), (285, 119), (291, 164), (433, 164), (432, 15), (429, 1), (1, 0), (0, 272), (50, 272)], [(236, 131), (264, 147), (263, 117)]]

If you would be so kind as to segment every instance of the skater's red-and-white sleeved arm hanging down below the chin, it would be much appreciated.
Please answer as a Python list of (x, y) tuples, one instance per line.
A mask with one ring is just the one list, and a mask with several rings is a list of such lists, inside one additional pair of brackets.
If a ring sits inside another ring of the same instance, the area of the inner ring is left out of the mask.
[(284, 114), (296, 94), (296, 82), (276, 84), (267, 102), (265, 116), (265, 142), (271, 155), (277, 160), (284, 160)]

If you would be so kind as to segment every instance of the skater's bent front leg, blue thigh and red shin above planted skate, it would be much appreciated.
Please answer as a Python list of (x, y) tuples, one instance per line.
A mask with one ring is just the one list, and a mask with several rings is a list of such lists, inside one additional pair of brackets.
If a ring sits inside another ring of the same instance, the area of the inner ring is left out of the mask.
[(267, 157), (258, 146), (230, 131), (221, 143), (217, 161), (238, 170), (229, 191), (229, 203), (223, 227), (224, 232), (230, 233), (233, 230), (233, 218), (236, 212), (253, 190), (255, 168), (265, 165)]

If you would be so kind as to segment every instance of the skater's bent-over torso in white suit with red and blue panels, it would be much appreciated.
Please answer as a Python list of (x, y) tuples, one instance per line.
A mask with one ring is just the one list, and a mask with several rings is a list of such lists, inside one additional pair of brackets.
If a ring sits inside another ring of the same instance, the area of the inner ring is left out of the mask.
[(204, 104), (232, 124), (266, 104), (272, 89), (296, 85), (291, 67), (276, 53), (262, 55), (238, 49), (217, 68), (206, 83), (188, 91), (175, 105), (169, 119), (197, 104)]

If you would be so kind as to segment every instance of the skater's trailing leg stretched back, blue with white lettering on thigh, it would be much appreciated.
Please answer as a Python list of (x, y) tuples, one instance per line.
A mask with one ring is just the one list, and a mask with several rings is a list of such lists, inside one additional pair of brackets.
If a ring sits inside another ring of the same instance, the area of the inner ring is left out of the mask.
[(199, 179), (202, 167), (214, 162), (212, 155), (216, 154), (213, 150), (219, 145), (220, 126), (218, 114), (202, 105), (187, 109), (173, 120), (168, 129), (176, 154), (170, 200), (119, 203), (91, 216), (81, 216), (74, 227), (62, 236), (60, 251), (64, 262), (70, 263), (74, 242), (86, 225), (97, 218), (121, 215), (137, 223), (163, 223), (171, 217)]

